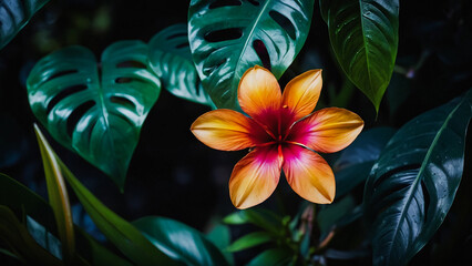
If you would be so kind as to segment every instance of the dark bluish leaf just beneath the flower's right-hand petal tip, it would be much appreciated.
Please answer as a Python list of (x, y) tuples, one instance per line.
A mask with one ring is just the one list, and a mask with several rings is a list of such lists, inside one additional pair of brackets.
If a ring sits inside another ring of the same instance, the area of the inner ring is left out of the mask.
[(393, 127), (380, 126), (360, 133), (334, 164), (336, 198), (349, 193), (369, 176), (380, 152), (394, 134)]

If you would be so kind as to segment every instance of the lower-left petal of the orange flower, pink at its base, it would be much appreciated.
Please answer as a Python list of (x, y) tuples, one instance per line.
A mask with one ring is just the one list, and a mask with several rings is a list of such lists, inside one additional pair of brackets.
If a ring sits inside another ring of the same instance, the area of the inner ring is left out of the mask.
[(277, 146), (257, 147), (233, 168), (229, 196), (237, 208), (248, 208), (267, 200), (280, 178), (281, 154)]

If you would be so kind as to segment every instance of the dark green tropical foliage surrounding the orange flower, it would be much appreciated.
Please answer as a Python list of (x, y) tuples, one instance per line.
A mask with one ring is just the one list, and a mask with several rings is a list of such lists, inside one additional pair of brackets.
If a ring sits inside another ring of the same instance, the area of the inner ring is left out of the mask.
[[(168, 2), (38, 12), (47, 2), (0, 1), (2, 264), (470, 264), (472, 6), (192, 0), (176, 21)], [(153, 37), (124, 40), (136, 35)], [(256, 64), (280, 84), (322, 66), (319, 105), (365, 120), (326, 156), (332, 204), (299, 202), (281, 184), (261, 207), (234, 212), (233, 157), (187, 137), (203, 109), (240, 111), (238, 83)], [(34, 140), (31, 113), (85, 161), (37, 125)]]

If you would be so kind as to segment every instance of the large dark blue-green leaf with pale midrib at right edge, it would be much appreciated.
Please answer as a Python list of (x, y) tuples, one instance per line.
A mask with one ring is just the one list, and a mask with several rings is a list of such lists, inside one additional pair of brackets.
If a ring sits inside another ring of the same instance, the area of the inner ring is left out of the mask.
[(373, 265), (407, 265), (454, 201), (464, 166), (472, 90), (403, 125), (366, 183)]

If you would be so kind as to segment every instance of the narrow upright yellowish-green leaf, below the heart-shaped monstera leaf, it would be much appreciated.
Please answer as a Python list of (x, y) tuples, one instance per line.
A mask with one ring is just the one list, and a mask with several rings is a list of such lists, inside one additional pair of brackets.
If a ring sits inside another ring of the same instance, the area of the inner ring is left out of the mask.
[(62, 254), (65, 262), (71, 262), (70, 259), (75, 256), (75, 237), (68, 190), (59, 164), (52, 154), (52, 149), (45, 142), (44, 136), (35, 124), (34, 132), (40, 144), (49, 203), (54, 212), (55, 224), (62, 243)]

